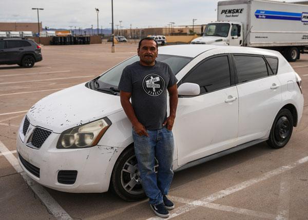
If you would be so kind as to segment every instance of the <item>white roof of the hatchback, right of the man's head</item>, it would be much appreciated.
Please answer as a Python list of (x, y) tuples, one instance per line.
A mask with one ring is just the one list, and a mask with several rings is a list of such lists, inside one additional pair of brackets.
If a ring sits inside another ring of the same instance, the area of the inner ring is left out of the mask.
[(196, 57), (201, 53), (212, 50), (215, 54), (221, 53), (246, 53), (246, 54), (259, 54), (267, 56), (280, 56), (280, 53), (273, 50), (252, 48), (252, 47), (240, 47), (240, 46), (218, 46), (218, 45), (172, 45), (159, 47), (159, 54), (177, 55)]

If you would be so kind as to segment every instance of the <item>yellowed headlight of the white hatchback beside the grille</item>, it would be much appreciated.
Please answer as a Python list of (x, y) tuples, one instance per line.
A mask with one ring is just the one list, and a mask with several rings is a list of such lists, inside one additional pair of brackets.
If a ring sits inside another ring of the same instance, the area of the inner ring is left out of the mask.
[(98, 144), (103, 134), (110, 127), (107, 117), (64, 131), (57, 142), (56, 148), (87, 148)]

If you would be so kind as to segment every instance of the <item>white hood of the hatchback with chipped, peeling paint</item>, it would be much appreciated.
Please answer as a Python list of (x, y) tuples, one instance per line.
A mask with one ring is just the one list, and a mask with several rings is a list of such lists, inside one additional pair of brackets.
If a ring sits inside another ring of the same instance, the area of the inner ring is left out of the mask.
[(120, 96), (89, 89), (83, 83), (42, 98), (27, 117), (33, 126), (62, 133), (122, 110)]

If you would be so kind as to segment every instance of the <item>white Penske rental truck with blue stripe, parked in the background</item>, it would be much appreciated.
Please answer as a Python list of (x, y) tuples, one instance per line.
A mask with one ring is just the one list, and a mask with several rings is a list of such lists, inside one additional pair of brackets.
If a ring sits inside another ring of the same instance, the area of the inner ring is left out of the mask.
[(308, 53), (308, 5), (266, 0), (218, 2), (217, 22), (191, 44), (277, 50), (290, 62)]

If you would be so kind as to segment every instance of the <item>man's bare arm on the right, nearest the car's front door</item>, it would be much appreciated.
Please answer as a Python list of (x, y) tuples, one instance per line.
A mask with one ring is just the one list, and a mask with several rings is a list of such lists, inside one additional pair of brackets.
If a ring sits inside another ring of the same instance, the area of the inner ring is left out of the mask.
[(167, 125), (168, 130), (172, 130), (172, 127), (176, 118), (176, 111), (178, 106), (178, 87), (177, 84), (168, 88), (169, 92), (169, 105), (170, 105), (170, 115), (167, 117), (163, 126)]

